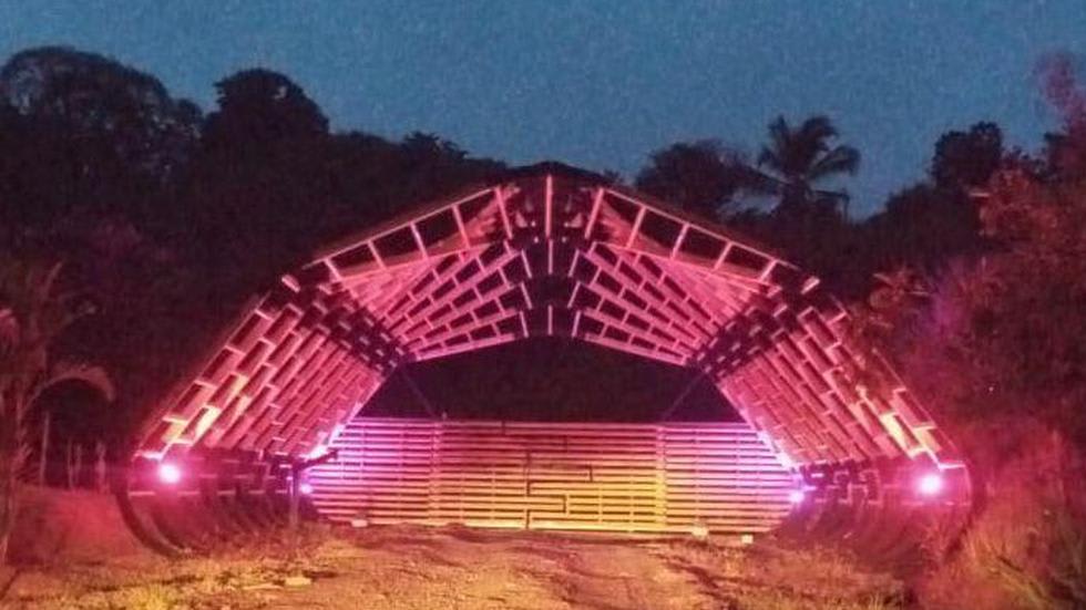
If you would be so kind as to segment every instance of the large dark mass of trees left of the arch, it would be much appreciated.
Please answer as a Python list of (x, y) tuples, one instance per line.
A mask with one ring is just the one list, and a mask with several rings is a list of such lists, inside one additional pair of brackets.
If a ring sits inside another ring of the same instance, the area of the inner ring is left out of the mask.
[(96, 303), (63, 348), (113, 372), (119, 432), (318, 244), (503, 167), (431, 134), (334, 133), (268, 70), (216, 91), (205, 113), (152, 75), (65, 48), (0, 69), (2, 250), (64, 260), (66, 283)]

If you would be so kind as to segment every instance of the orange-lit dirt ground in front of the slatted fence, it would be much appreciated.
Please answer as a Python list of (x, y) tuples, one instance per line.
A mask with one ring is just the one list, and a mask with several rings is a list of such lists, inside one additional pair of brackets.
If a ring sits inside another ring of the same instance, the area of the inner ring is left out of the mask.
[(902, 598), (897, 580), (838, 554), (768, 541), (400, 527), (184, 560), (9, 570), (4, 588), (0, 608), (11, 609), (877, 610), (900, 608)]

